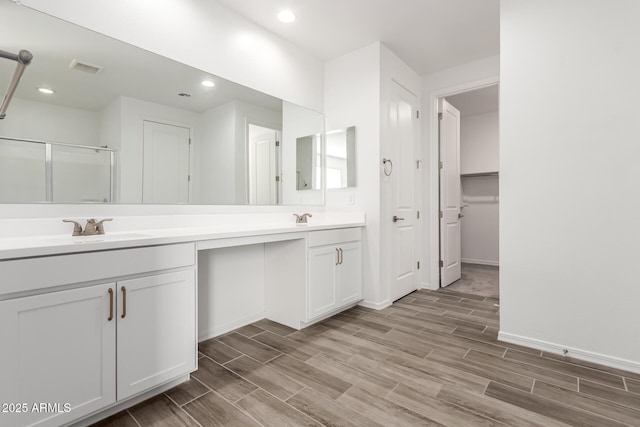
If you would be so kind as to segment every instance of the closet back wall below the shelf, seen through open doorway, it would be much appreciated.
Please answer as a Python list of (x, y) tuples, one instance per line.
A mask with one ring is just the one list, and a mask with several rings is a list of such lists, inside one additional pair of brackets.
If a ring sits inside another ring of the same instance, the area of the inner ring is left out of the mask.
[(462, 262), (498, 265), (498, 176), (462, 177)]

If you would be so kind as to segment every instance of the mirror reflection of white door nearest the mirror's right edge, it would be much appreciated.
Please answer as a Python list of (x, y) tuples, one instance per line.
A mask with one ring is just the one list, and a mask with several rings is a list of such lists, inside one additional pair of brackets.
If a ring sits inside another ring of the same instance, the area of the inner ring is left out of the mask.
[(280, 155), (278, 131), (249, 125), (249, 203), (280, 202)]

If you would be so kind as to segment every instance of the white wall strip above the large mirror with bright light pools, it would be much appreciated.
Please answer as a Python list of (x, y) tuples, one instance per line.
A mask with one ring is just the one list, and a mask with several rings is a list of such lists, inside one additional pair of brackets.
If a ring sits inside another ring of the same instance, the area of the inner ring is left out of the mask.
[(322, 62), (216, 1), (21, 3), (278, 98), (322, 108)]

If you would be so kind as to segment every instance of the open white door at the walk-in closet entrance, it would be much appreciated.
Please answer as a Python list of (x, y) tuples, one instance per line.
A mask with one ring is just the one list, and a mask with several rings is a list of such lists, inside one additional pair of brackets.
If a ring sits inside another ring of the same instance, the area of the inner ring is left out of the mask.
[(439, 101), (440, 286), (460, 279), (460, 111)]

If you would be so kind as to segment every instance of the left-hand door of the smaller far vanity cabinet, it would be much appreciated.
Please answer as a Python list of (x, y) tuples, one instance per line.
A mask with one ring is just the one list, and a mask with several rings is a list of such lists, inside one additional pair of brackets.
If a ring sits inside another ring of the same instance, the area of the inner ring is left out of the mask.
[(315, 319), (338, 306), (336, 266), (338, 253), (335, 246), (309, 249), (309, 292), (307, 320)]

